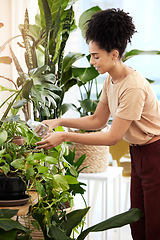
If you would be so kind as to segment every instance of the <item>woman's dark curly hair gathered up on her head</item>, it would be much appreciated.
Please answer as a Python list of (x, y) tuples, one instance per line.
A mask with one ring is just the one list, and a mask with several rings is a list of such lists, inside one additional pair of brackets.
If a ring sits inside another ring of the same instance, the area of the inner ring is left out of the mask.
[(119, 8), (97, 12), (85, 24), (87, 24), (85, 35), (87, 43), (95, 41), (108, 53), (117, 49), (120, 58), (136, 32), (132, 17)]

